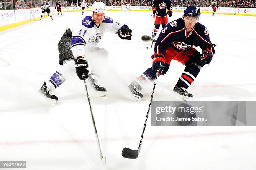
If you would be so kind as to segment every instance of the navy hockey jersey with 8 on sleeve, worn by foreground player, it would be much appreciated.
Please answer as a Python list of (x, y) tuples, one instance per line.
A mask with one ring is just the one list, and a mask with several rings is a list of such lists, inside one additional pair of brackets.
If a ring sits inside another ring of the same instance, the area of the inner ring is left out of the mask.
[(212, 44), (209, 32), (204, 25), (196, 23), (193, 30), (186, 34), (185, 23), (182, 18), (168, 23), (161, 31), (155, 44), (155, 53), (166, 54), (168, 47), (174, 48), (177, 52), (189, 50), (192, 46), (200, 47), (202, 50), (213, 49), (216, 45)]

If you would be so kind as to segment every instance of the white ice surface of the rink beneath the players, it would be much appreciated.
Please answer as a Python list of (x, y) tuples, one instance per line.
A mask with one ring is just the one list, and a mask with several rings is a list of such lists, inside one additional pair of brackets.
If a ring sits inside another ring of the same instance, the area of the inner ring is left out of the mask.
[[(65, 28), (82, 20), (79, 12), (63, 15), (0, 32), (0, 161), (27, 161), (26, 170), (102, 170), (83, 82), (74, 74), (54, 90), (59, 97), (54, 106), (38, 95), (59, 67), (57, 45)], [(152, 85), (140, 102), (127, 86), (151, 67), (153, 50), (141, 36), (151, 36), (154, 25), (151, 12), (107, 15), (127, 24), (133, 37), (104, 35), (99, 47), (109, 55), (100, 83), (108, 95), (98, 97), (89, 88), (106, 169), (255, 170), (253, 126), (151, 126), (148, 120), (139, 157), (121, 156), (123, 147), (136, 150), (141, 137)], [(169, 21), (181, 16), (174, 13)], [(202, 14), (200, 23), (217, 46), (189, 88), (194, 100), (256, 100), (256, 17)], [(172, 61), (158, 79), (154, 100), (181, 100), (172, 89), (183, 70)], [(11, 169), (17, 168), (6, 168)]]

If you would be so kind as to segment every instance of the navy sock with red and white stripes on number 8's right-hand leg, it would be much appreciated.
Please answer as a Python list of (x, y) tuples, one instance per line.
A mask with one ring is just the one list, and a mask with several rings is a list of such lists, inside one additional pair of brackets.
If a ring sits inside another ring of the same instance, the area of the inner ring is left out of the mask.
[(187, 65), (185, 67), (184, 72), (182, 75), (179, 77), (179, 80), (177, 82), (178, 87), (184, 87), (188, 88), (192, 82), (195, 80), (197, 77), (198, 73), (200, 72), (200, 69), (202, 66), (197, 65), (196, 63), (192, 62), (191, 64)]

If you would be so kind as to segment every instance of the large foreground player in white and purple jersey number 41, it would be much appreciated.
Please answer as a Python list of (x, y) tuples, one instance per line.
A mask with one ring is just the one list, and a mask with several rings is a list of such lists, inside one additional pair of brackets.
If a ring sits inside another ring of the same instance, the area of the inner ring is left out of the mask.
[[(88, 57), (88, 51), (97, 52), (102, 50), (97, 47), (97, 44), (105, 32), (118, 34), (123, 40), (131, 40), (132, 36), (132, 31), (127, 25), (120, 25), (112, 18), (105, 16), (106, 11), (107, 8), (103, 2), (94, 2), (92, 15), (86, 16), (77, 28), (67, 29), (61, 37), (58, 49), (59, 64), (62, 66), (51, 75), (49, 81), (44, 82), (40, 89), (40, 92), (48, 98), (52, 105), (56, 104), (58, 100), (58, 97), (53, 95), (52, 91), (63, 84), (70, 73), (74, 74), (75, 70), (80, 79), (84, 80), (89, 77), (92, 87), (95, 88), (99, 95), (106, 95), (107, 90), (98, 84), (99, 76), (93, 68), (89, 75), (86, 59)], [(104, 52), (105, 54), (106, 52)], [(85, 75), (85, 77), (82, 75)]]

